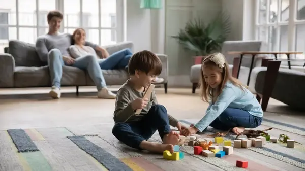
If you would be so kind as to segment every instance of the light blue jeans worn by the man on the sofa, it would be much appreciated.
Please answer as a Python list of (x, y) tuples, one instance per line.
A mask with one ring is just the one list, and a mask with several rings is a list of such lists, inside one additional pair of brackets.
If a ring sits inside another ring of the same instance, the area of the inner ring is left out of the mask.
[[(106, 87), (106, 81), (100, 69), (98, 59), (94, 55), (86, 55), (78, 57), (72, 64), (73, 67), (77, 67), (82, 70), (87, 70), (89, 76), (96, 84), (98, 91), (103, 87)], [(62, 53), (58, 49), (52, 49), (48, 53), (48, 65), (50, 70), (50, 76), (52, 86), (60, 88), (60, 80), (62, 80), (63, 66), (65, 64)]]

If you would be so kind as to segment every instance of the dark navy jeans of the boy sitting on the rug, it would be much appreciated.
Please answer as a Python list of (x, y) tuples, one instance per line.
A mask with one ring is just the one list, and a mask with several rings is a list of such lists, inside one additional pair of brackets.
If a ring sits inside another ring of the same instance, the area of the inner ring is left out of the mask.
[(112, 133), (126, 145), (142, 150), (141, 142), (148, 140), (157, 130), (161, 139), (171, 131), (167, 110), (162, 105), (152, 106), (140, 121), (116, 123), (112, 128)]

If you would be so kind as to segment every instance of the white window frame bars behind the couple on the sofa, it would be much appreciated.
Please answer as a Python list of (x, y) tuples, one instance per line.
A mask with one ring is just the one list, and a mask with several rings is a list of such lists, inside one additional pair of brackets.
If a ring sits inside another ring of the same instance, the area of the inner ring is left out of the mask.
[[(48, 26), (41, 26), (39, 25), (39, 18), (40, 18), (40, 11), (39, 11), (39, 0), (36, 0), (36, 25), (19, 25), (19, 1), (21, 0), (15, 0), (15, 3), (16, 3), (16, 24), (12, 25), (12, 24), (0, 24), (0, 27), (7, 27), (8, 29), (10, 27), (14, 27), (16, 28), (16, 38), (17, 40), (19, 40), (20, 38), (20, 35), (19, 35), (19, 29), (20, 28), (36, 28), (36, 36), (40, 36), (39, 35), (39, 31), (40, 29), (44, 28), (48, 28)], [(65, 15), (65, 11), (64, 11), (64, 1), (65, 0), (54, 0), (55, 1), (55, 9), (54, 10), (59, 10), (61, 11), (64, 15)], [(124, 41), (124, 32), (123, 32), (123, 29), (124, 29), (124, 24), (120, 24), (118, 22), (121, 22), (121, 23), (126, 23), (124, 22), (126, 16), (125, 16), (125, 13), (123, 13), (123, 15), (121, 15), (120, 11), (123, 11), (125, 9), (124, 5), (125, 3), (123, 3), (125, 0), (115, 0), (116, 1), (116, 27), (101, 27), (101, 0), (98, 0), (99, 2), (99, 26), (98, 27), (83, 27), (82, 25), (82, 2), (84, 0), (80, 0), (80, 25), (78, 27), (82, 27), (82, 28), (85, 28), (85, 29), (98, 29), (99, 30), (99, 45), (101, 45), (102, 43), (102, 40), (101, 40), (101, 30), (102, 29), (107, 29), (107, 30), (115, 30), (116, 32), (116, 43), (120, 42), (120, 41)], [(122, 6), (123, 5), (123, 6)], [(6, 12), (6, 10), (1, 10), (1, 11), (4, 11)], [(8, 10), (9, 11), (9, 10)], [(34, 13), (35, 13), (34, 12)], [(64, 27), (64, 20), (65, 18), (63, 19), (63, 22), (62, 22), (62, 25), (60, 27), (60, 32), (64, 32), (65, 29), (75, 29), (75, 28), (78, 28), (78, 27)], [(121, 27), (121, 28), (120, 28)], [(118, 33), (119, 32), (119, 33)], [(10, 39), (10, 38), (9, 38)]]

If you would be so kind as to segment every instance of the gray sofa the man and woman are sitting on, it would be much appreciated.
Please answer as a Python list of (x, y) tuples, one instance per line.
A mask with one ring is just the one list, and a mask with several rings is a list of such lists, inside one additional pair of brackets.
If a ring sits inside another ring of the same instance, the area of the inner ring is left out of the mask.
[[(134, 49), (132, 42), (122, 42), (116, 45), (105, 46), (109, 54), (124, 48)], [(163, 64), (159, 76), (164, 79), (165, 93), (167, 93), (168, 58), (164, 54), (157, 54)], [(122, 85), (128, 79), (127, 70), (102, 70), (106, 84)], [(94, 86), (94, 82), (84, 70), (76, 67), (63, 66), (62, 86)], [(18, 40), (11, 40), (5, 48), (5, 53), (0, 53), (0, 88), (21, 87), (50, 87), (51, 80), (49, 68), (41, 62), (35, 50), (35, 45)]]

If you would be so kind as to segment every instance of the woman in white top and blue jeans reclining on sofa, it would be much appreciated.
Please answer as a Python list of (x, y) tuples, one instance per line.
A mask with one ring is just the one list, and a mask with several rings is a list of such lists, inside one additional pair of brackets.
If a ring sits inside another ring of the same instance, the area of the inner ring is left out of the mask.
[[(129, 59), (133, 55), (131, 50), (128, 48), (119, 50), (111, 55), (109, 55), (106, 49), (102, 49), (102, 58), (100, 58), (92, 47), (84, 46), (86, 41), (86, 32), (83, 28), (75, 29), (72, 38), (75, 43), (69, 48), (70, 55), (75, 59), (83, 55), (94, 55), (97, 57), (98, 63), (102, 70), (126, 69)], [(162, 82), (162, 78), (157, 78), (155, 83)]]

